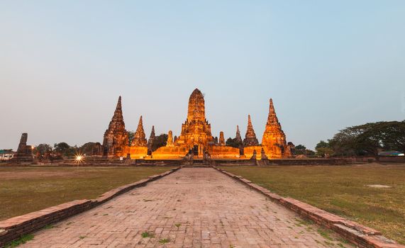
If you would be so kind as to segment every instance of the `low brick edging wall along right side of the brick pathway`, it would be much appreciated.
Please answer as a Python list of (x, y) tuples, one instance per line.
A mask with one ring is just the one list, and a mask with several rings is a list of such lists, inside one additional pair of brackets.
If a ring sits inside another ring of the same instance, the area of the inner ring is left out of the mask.
[(337, 232), (339, 235), (348, 239), (348, 241), (355, 244), (357, 247), (362, 248), (405, 248), (404, 245), (397, 244), (392, 239), (387, 239), (381, 235), (381, 232), (374, 230), (370, 227), (365, 227), (357, 222), (353, 222), (342, 218), (338, 215), (333, 215), (325, 210), (315, 208), (312, 205), (297, 201), (293, 198), (284, 198), (276, 193), (270, 192), (267, 188), (253, 184), (248, 179), (244, 179), (242, 176), (236, 176), (235, 174), (218, 169), (223, 174), (230, 176), (236, 181), (240, 181), (242, 184), (253, 188), (255, 191), (262, 193), (272, 201), (284, 205), (285, 207), (293, 210), (304, 218), (316, 222), (318, 225), (322, 225), (328, 229)]

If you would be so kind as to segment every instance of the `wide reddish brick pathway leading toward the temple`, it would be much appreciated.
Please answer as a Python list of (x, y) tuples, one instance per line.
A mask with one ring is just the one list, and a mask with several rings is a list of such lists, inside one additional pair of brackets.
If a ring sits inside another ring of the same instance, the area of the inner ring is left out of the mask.
[(339, 240), (214, 169), (183, 168), (36, 232), (21, 247), (348, 246)]

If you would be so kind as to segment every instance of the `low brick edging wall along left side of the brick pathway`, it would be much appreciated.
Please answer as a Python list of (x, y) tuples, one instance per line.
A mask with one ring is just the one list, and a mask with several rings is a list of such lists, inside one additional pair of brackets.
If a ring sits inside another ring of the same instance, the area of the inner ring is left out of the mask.
[(105, 203), (106, 201), (109, 201), (122, 193), (126, 193), (133, 188), (145, 186), (150, 181), (155, 181), (163, 176), (172, 174), (172, 172), (177, 171), (179, 168), (170, 169), (162, 174), (149, 176), (148, 179), (143, 179), (132, 184), (114, 188), (95, 199), (70, 201), (68, 203), (62, 203), (60, 205), (55, 205), (53, 207), (45, 208), (33, 213), (0, 221), (0, 247), (4, 247), (8, 242), (18, 239), (23, 235), (38, 231), (46, 225), (59, 222), (60, 220), (64, 220), (73, 215), (77, 215), (78, 213), (82, 213), (86, 210), (94, 208), (97, 205)]

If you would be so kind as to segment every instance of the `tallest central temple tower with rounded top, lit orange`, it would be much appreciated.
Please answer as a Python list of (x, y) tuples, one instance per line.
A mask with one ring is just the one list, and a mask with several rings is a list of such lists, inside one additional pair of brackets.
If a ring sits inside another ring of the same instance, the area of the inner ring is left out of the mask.
[(205, 118), (204, 96), (199, 89), (194, 89), (189, 98), (187, 120), (182, 124), (182, 133), (176, 144), (194, 150), (194, 154), (204, 154), (204, 149), (213, 142), (211, 124)]

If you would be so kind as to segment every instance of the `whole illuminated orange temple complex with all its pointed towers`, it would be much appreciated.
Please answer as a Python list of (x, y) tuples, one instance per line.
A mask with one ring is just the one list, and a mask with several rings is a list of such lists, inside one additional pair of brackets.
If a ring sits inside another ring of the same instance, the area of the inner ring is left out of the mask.
[(234, 140), (239, 145), (228, 146), (225, 140), (223, 132), (220, 132), (219, 140), (213, 137), (211, 123), (206, 120), (204, 96), (199, 89), (194, 89), (189, 97), (187, 119), (182, 123), (182, 131), (178, 137), (173, 138), (172, 131), (168, 131), (166, 145), (153, 151), (155, 128), (152, 128), (150, 139), (146, 140), (143, 120), (140, 116), (138, 128), (130, 143), (123, 121), (120, 96), (109, 128), (104, 133), (103, 155), (104, 157), (131, 157), (131, 159), (181, 159), (187, 154), (193, 154), (196, 159), (203, 158), (207, 154), (211, 159), (249, 159), (254, 153), (257, 154), (257, 159), (260, 159), (261, 155), (269, 159), (291, 156), (290, 145), (287, 145), (272, 99), (270, 99), (269, 115), (261, 145), (253, 130), (250, 115), (248, 115), (245, 139), (242, 140), (240, 137), (237, 126)]

